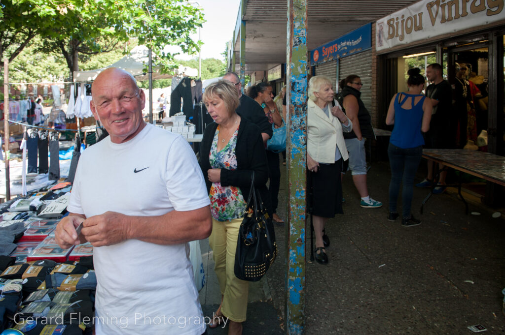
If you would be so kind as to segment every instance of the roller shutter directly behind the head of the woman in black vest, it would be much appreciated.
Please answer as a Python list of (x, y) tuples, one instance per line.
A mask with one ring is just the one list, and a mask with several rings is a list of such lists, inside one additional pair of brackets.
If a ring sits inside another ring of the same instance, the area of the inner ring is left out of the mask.
[(361, 100), (369, 111), (372, 110), (372, 49), (340, 58), (338, 80), (349, 75), (360, 76), (363, 83)]

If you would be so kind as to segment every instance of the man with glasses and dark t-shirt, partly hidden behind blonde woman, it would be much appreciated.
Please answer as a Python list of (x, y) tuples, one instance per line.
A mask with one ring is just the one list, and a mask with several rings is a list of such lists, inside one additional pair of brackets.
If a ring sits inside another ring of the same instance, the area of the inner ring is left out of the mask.
[(236, 73), (228, 72), (223, 76), (223, 79), (233, 83), (238, 91), (240, 105), (238, 105), (235, 112), (256, 124), (260, 128), (263, 142), (267, 143), (267, 140), (272, 137), (272, 124), (268, 121), (268, 117), (265, 115), (263, 108), (261, 108), (260, 104), (254, 99), (242, 94), (240, 89), (242, 84)]

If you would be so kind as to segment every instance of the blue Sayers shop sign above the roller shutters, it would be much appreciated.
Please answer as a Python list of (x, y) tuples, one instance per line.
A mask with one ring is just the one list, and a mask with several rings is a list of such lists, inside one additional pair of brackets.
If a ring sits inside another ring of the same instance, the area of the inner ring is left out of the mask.
[(311, 66), (365, 51), (372, 47), (372, 24), (326, 43), (311, 51)]

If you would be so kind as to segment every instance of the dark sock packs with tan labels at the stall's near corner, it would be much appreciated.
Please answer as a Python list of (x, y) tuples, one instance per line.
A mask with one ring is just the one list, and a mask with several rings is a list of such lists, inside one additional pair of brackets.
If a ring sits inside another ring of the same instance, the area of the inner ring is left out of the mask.
[(64, 263), (13, 261), (0, 257), (0, 332), (8, 326), (26, 335), (91, 334), (96, 289), (92, 257)]

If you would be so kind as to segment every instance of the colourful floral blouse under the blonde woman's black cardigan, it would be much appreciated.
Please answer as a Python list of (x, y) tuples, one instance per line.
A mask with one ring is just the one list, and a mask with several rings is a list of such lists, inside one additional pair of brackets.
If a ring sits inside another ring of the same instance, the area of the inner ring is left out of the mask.
[[(219, 126), (214, 134), (209, 160), (213, 169), (237, 169), (237, 156), (235, 146), (237, 144), (238, 128), (233, 133), (228, 144), (218, 152)], [(222, 186), (220, 182), (212, 183), (209, 192), (211, 198), (212, 217), (217, 221), (228, 221), (242, 218), (245, 211), (245, 200), (242, 191), (237, 186)]]

